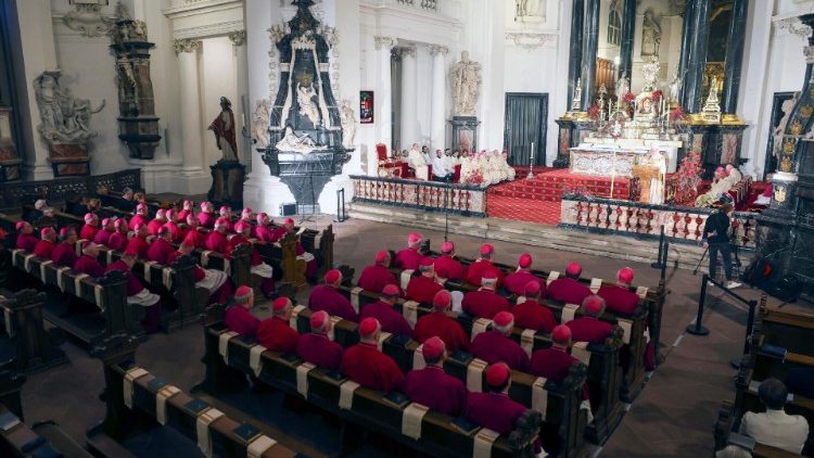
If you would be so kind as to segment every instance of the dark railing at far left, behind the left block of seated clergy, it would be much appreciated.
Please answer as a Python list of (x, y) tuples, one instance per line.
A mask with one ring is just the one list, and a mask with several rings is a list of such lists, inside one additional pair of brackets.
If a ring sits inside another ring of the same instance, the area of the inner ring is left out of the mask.
[(126, 187), (141, 189), (141, 169), (128, 168), (113, 174), (88, 177), (3, 183), (0, 187), (0, 209), (20, 209), (21, 204), (34, 203), (37, 199), (62, 202), (68, 191), (76, 192), (78, 195), (96, 194), (100, 186), (106, 186), (112, 191), (122, 191)]

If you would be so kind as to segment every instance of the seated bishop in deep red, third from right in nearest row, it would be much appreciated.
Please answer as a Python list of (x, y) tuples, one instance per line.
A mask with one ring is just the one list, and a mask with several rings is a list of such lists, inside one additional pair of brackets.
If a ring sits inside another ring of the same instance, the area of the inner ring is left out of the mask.
[(404, 373), (390, 356), (379, 351), (381, 326), (376, 318), (359, 323), (359, 343), (342, 355), (340, 370), (354, 382), (381, 392), (397, 390)]

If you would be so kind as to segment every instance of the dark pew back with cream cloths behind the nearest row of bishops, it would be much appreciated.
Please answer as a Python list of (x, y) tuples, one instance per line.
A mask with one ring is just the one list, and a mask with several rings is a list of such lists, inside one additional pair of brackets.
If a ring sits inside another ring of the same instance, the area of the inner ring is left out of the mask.
[[(233, 387), (245, 380), (245, 374), (251, 374), (287, 394), (306, 397), (308, 403), (340, 417), (345, 444), (357, 440), (360, 430), (367, 430), (430, 456), (471, 457), (475, 445), (483, 444), (484, 437), (488, 436), (486, 431), (476, 427), (463, 431), (453, 423), (454, 418), (435, 411), (421, 417), (420, 430), (403, 430), (405, 410), (410, 411), (406, 409), (409, 403), (397, 404), (383, 393), (365, 387), (353, 390), (355, 384), (341, 374), (319, 368), (306, 371), (304, 369), (308, 366), (296, 358), (264, 351), (252, 339), (233, 336), (220, 321), (218, 313), (213, 314), (205, 325), (206, 378), (200, 386), (213, 395)], [(221, 355), (226, 355), (226, 360)], [(527, 429), (497, 437), (491, 445), (493, 457), (533, 455), (539, 414), (529, 411), (524, 416), (527, 416), (527, 421), (518, 423)]]

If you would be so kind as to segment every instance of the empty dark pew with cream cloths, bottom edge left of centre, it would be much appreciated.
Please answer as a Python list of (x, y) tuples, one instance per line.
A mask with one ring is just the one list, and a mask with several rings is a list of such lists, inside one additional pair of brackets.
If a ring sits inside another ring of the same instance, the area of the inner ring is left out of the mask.
[[(136, 339), (116, 335), (96, 348), (104, 365), (106, 415), (88, 432), (96, 451), (111, 450), (140, 424), (171, 428), (218, 457), (291, 458), (291, 449), (249, 423), (234, 421), (202, 399), (193, 398), (135, 364)], [(205, 424), (204, 424), (205, 423)], [(256, 455), (252, 455), (256, 454)], [(206, 453), (204, 453), (206, 455)]]

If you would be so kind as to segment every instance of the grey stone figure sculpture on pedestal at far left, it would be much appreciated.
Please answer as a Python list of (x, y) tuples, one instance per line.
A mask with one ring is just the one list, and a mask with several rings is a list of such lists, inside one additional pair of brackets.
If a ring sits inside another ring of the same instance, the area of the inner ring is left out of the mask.
[(90, 129), (90, 116), (104, 109), (104, 100), (96, 110), (87, 99), (77, 99), (60, 86), (62, 72), (46, 71), (34, 80), (34, 91), (42, 124), (37, 130), (54, 143), (85, 143), (97, 132)]

